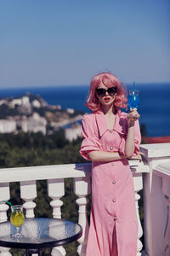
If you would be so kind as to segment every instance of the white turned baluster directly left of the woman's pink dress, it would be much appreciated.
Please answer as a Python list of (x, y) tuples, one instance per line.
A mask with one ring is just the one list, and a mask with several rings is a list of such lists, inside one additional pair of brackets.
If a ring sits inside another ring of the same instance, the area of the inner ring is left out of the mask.
[(90, 177), (74, 177), (74, 192), (79, 197), (77, 204), (79, 206), (78, 223), (82, 226), (82, 237), (78, 240), (80, 243), (77, 253), (81, 256), (86, 255), (88, 240), (88, 216), (87, 216), (87, 195), (90, 194)]

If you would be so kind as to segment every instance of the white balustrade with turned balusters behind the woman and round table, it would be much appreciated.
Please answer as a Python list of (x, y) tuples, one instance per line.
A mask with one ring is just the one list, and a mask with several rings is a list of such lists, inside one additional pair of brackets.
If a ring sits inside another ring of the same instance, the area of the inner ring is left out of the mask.
[[(143, 163), (139, 164), (134, 161), (130, 163), (133, 170), (134, 187), (135, 192), (138, 193), (142, 189), (141, 173), (147, 172), (147, 166)], [(8, 175), (7, 175), (8, 172)], [(63, 202), (62, 196), (65, 195), (65, 184), (64, 179), (66, 177), (72, 177), (74, 179), (74, 193), (78, 196), (77, 204), (78, 210), (78, 222), (82, 225), (82, 237), (78, 240), (80, 246), (77, 249), (79, 255), (84, 256), (86, 253), (86, 245), (88, 239), (88, 218), (87, 218), (87, 195), (90, 194), (90, 177), (91, 177), (91, 164), (79, 164), (79, 165), (59, 165), (59, 166), (32, 166), (32, 167), (20, 167), (0, 170), (0, 188), (3, 191), (3, 199), (9, 199), (9, 187), (8, 183), (14, 181), (20, 181), (20, 197), (26, 201), (24, 207), (26, 208), (26, 218), (34, 218), (34, 208), (36, 203), (33, 200), (37, 197), (37, 185), (36, 180), (46, 179), (48, 182), (48, 196), (52, 198), (50, 206), (53, 208), (53, 217), (61, 218), (60, 207)], [(5, 184), (5, 185), (4, 185)], [(1, 191), (1, 190), (0, 190)], [(136, 194), (136, 206), (137, 215), (139, 220), (139, 209), (138, 200), (139, 195)], [(76, 203), (75, 202), (75, 203)], [(3, 207), (2, 207), (3, 206)], [(1, 212), (2, 209), (2, 212)], [(6, 204), (0, 204), (0, 218), (2, 221), (7, 219), (6, 211), (8, 206)], [(139, 238), (142, 236), (141, 224), (139, 221)], [(138, 252), (141, 250), (141, 241), (138, 241), (139, 247)], [(4, 254), (8, 253), (8, 248), (3, 248), (0, 255), (11, 255)], [(2, 254), (3, 253), (3, 254)], [(54, 247), (52, 250), (52, 256), (64, 256), (64, 247)], [(138, 256), (140, 255), (137, 254)]]

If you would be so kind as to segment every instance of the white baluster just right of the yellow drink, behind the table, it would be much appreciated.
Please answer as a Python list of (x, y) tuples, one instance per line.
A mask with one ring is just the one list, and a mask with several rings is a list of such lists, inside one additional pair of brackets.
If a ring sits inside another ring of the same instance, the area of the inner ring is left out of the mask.
[(33, 200), (37, 197), (37, 185), (35, 180), (20, 182), (20, 197), (26, 201), (23, 207), (26, 209), (26, 218), (34, 218), (36, 203)]

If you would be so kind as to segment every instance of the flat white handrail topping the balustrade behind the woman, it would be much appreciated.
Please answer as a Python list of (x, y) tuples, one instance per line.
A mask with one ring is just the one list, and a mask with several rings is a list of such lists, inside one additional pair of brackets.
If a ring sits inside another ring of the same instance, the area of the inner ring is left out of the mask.
[[(149, 172), (144, 161), (139, 163), (139, 160), (130, 160), (129, 165), (132, 172)], [(0, 169), (0, 183), (87, 176), (91, 176), (91, 163)]]

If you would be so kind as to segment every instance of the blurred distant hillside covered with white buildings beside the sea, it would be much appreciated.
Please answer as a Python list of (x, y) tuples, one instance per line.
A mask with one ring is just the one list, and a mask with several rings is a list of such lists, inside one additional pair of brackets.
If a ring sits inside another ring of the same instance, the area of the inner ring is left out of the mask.
[(45, 135), (80, 119), (82, 111), (48, 105), (41, 96), (30, 93), (0, 100), (0, 133), (40, 131)]

